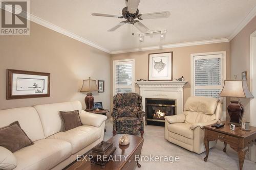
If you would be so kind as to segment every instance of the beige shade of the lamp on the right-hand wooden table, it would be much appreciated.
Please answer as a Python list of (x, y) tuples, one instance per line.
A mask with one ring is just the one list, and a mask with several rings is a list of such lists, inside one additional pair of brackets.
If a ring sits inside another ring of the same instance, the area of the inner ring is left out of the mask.
[(253, 98), (253, 95), (248, 89), (246, 80), (225, 80), (224, 87), (219, 96), (230, 98)]

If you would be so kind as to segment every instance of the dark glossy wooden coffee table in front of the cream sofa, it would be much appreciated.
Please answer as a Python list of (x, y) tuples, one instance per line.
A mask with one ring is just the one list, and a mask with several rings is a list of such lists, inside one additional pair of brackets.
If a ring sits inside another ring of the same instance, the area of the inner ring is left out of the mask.
[[(135, 169), (136, 164), (138, 167), (140, 167), (140, 164), (135, 161), (135, 155), (140, 155), (141, 154), (141, 149), (143, 145), (144, 139), (139, 137), (139, 136), (134, 136), (134, 135), (128, 135), (130, 138), (130, 144), (126, 146), (119, 145), (118, 140), (122, 136), (122, 134), (117, 134), (113, 136), (111, 139), (109, 139), (109, 142), (113, 142), (114, 146), (116, 147), (116, 151), (114, 152), (114, 155), (123, 155), (121, 156), (121, 159), (118, 161), (109, 161), (106, 163), (105, 167), (102, 168), (100, 165), (91, 165), (91, 162), (88, 160), (88, 157), (86, 157), (86, 160), (81, 162), (75, 162), (72, 164), (70, 167), (68, 167), (66, 170), (99, 170), (99, 169), (104, 169), (104, 170), (117, 170), (117, 169), (122, 169), (122, 170), (130, 170), (130, 169)], [(125, 157), (126, 160), (125, 160)], [(116, 158), (119, 158), (116, 157)], [(82, 158), (83, 159), (83, 158)]]

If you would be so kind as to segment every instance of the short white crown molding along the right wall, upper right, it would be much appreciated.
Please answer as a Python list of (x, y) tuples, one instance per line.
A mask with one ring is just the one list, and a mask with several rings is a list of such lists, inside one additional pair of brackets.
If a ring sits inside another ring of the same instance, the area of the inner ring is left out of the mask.
[(256, 16), (256, 6), (249, 12), (249, 14), (239, 23), (238, 27), (234, 29), (233, 33), (228, 37), (231, 41), (243, 28)]

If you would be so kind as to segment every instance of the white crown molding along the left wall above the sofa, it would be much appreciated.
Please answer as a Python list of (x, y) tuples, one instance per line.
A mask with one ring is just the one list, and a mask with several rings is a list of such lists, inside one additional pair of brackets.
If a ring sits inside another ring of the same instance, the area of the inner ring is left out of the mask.
[(70, 32), (68, 30), (62, 29), (62, 28), (54, 25), (53, 23), (50, 23), (50, 22), (48, 22), (48, 21), (46, 21), (44, 19), (41, 19), (41, 18), (39, 18), (39, 17), (37, 17), (35, 15), (29, 14), (29, 18), (28, 19), (33, 21), (33, 22), (35, 22), (35, 23), (37, 23), (37, 24), (39, 24), (39, 25), (41, 25), (41, 26), (44, 26), (44, 27), (49, 28), (49, 29), (51, 29), (53, 31), (56, 31), (56, 32), (58, 32), (60, 34), (66, 35), (66, 36), (68, 36), (70, 38), (73, 38), (73, 39), (75, 39), (77, 41), (80, 41), (82, 43), (88, 44), (88, 45), (90, 45), (92, 47), (98, 48), (101, 51), (104, 51), (106, 53), (111, 54), (110, 50), (108, 50), (108, 49), (106, 49), (106, 48), (104, 48), (104, 47), (102, 47), (100, 45), (97, 45), (96, 43), (94, 43), (92, 41), (89, 41), (89, 40), (87, 40), (85, 38), (82, 38), (79, 35), (76, 35), (76, 34)]

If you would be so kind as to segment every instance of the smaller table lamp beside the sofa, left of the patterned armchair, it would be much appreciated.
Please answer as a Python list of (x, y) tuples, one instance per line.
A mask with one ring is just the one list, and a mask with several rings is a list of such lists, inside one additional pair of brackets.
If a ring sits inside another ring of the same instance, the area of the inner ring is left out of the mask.
[(96, 80), (91, 80), (91, 77), (89, 77), (88, 80), (83, 80), (82, 88), (80, 90), (80, 92), (88, 92), (84, 99), (84, 102), (86, 103), (86, 111), (93, 110), (94, 97), (91, 91), (99, 91), (99, 89), (97, 87)]

